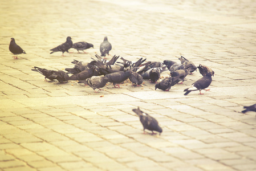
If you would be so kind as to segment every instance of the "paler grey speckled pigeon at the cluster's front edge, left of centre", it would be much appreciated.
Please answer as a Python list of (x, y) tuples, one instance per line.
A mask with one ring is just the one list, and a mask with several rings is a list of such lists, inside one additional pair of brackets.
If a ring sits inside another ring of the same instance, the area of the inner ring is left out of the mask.
[(87, 79), (86, 82), (92, 89), (94, 89), (94, 91), (96, 88), (99, 89), (99, 91), (101, 91), (102, 89), (100, 88), (104, 87), (107, 84), (108, 78), (105, 76), (92, 76), (91, 78)]

